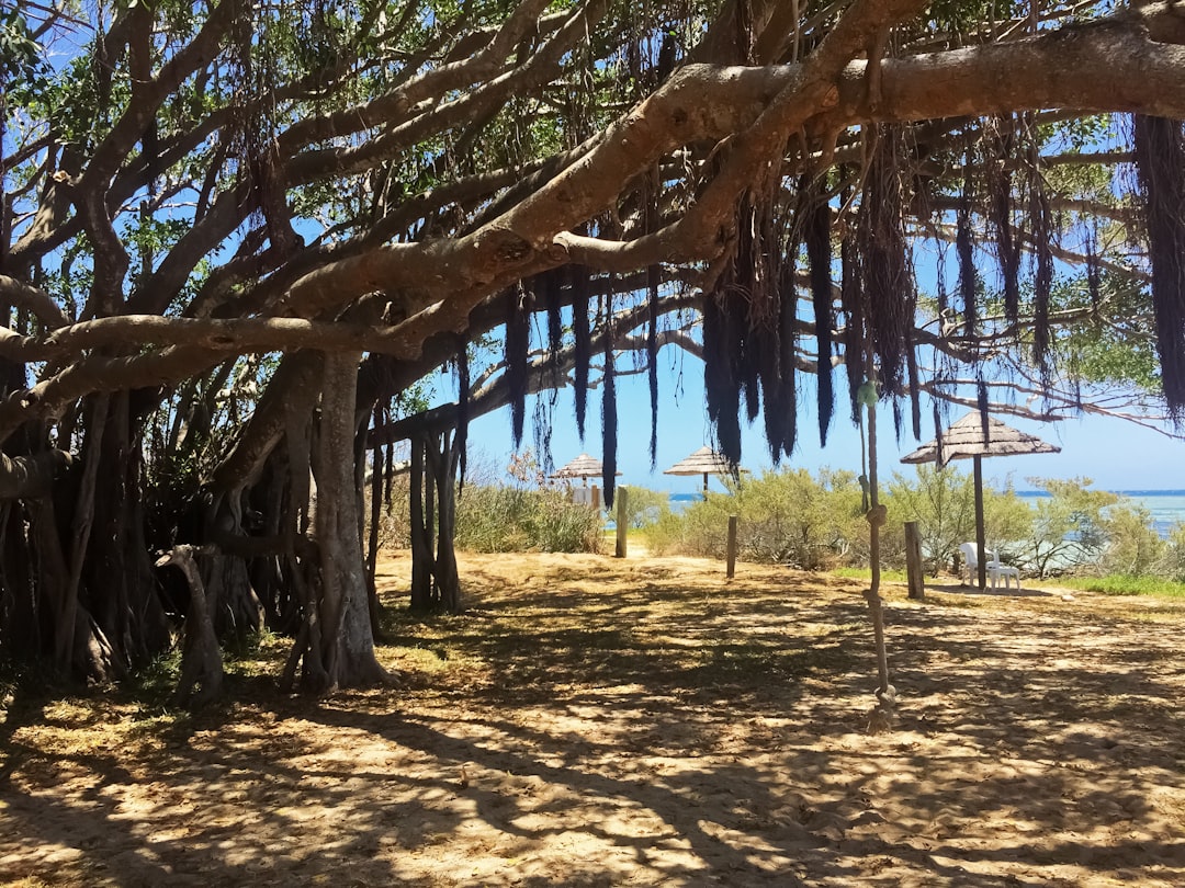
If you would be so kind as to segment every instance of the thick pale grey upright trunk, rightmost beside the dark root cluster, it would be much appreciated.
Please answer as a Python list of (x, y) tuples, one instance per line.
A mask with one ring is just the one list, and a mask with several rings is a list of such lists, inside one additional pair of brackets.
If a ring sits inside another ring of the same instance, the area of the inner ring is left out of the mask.
[(354, 398), (358, 354), (326, 355), (321, 422), (314, 449), (320, 552), (319, 614), (328, 688), (365, 687), (389, 680), (374, 658), (354, 484)]

